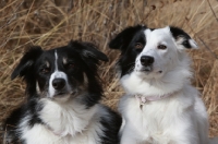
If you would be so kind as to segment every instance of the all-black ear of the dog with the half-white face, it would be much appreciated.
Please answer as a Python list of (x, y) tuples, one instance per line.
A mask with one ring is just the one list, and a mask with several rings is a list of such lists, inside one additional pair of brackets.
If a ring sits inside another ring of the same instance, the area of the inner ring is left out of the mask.
[(123, 29), (109, 43), (109, 48), (123, 50), (124, 49), (123, 46), (129, 44), (134, 34), (141, 31), (142, 28), (146, 29), (146, 26), (136, 25)]

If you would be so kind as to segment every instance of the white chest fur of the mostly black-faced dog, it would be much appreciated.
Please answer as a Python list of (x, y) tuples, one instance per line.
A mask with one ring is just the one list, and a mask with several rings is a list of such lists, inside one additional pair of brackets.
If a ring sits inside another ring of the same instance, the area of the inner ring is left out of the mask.
[[(86, 109), (85, 106), (70, 101), (58, 104), (43, 99), (44, 108), (40, 118), (47, 124), (35, 124), (33, 128), (22, 123), (23, 139), (27, 144), (97, 144), (101, 132), (98, 105)], [(27, 117), (25, 118), (27, 121)], [(37, 139), (40, 137), (40, 139)]]

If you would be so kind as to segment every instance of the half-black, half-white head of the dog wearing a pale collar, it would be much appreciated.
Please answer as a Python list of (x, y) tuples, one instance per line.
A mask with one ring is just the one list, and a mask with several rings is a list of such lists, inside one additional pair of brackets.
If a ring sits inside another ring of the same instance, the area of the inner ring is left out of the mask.
[(197, 45), (178, 27), (150, 29), (137, 25), (118, 34), (109, 47), (121, 50), (118, 62), (121, 76), (136, 72), (146, 79), (158, 79), (175, 64), (189, 61), (184, 49), (197, 48)]

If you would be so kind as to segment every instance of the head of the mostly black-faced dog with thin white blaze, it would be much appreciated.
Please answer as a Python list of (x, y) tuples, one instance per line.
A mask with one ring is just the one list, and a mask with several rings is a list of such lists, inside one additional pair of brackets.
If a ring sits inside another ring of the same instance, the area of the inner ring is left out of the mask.
[[(108, 58), (89, 43), (70, 41), (68, 46), (51, 50), (32, 47), (11, 77), (24, 77), (28, 96), (69, 99), (84, 92), (100, 96), (99, 60), (108, 61)], [(90, 101), (95, 103), (99, 96), (90, 97)]]

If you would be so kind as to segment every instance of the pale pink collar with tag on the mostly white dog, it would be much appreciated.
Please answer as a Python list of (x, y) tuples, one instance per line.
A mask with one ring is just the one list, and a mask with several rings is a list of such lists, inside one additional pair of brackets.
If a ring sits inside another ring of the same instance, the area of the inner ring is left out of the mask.
[(178, 92), (179, 91), (175, 91), (175, 92), (159, 95), (159, 96), (144, 96), (144, 95), (141, 95), (141, 94), (135, 94), (135, 98), (140, 101), (140, 107), (142, 108), (142, 106), (145, 105), (147, 101), (161, 100), (164, 98), (170, 97), (171, 95), (173, 95)]

